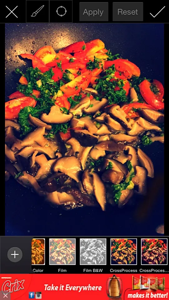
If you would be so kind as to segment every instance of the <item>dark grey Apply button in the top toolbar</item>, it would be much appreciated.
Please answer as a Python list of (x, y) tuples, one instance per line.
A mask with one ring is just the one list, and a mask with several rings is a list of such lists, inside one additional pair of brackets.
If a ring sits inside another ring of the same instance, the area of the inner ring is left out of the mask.
[(80, 2), (80, 21), (108, 21), (108, 2)]

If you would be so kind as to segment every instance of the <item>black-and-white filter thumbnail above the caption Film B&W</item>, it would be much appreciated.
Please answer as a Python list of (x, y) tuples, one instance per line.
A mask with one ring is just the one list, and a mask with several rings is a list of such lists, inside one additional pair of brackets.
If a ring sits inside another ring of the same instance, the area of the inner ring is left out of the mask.
[(106, 265), (106, 238), (81, 238), (80, 264)]

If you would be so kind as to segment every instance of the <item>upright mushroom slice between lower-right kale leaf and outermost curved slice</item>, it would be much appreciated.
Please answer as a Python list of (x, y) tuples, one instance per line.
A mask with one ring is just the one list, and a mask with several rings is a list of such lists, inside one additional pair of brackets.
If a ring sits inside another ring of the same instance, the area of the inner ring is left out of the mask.
[(145, 168), (136, 166), (136, 176), (132, 178), (132, 182), (138, 186), (138, 194), (145, 195), (147, 192), (146, 187), (147, 172)]

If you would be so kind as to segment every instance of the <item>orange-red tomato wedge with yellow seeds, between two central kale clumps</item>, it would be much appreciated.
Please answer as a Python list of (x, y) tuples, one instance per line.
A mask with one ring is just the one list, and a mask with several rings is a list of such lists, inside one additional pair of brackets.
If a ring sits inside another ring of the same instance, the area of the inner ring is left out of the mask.
[(67, 97), (77, 95), (81, 90), (84, 90), (88, 87), (91, 80), (91, 72), (87, 71), (79, 76), (77, 76), (72, 81), (62, 85), (60, 87), (61, 91), (65, 93)]

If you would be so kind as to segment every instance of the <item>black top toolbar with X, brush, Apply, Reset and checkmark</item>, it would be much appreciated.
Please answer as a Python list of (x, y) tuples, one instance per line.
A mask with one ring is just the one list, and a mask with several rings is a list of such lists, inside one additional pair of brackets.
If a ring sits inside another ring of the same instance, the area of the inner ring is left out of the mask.
[(3, 23), (145, 22), (168, 23), (168, 4), (26, 0), (3, 4)]

